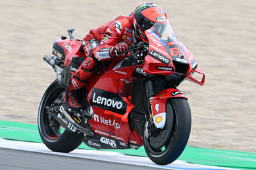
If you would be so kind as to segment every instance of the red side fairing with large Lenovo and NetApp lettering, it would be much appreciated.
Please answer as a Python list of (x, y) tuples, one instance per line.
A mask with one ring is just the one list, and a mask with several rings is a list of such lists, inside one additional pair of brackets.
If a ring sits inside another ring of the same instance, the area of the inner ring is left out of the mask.
[(124, 91), (129, 91), (128, 81), (136, 66), (111, 70), (100, 77), (88, 94), (95, 116), (90, 126), (96, 134), (118, 139), (125, 144), (132, 141), (143, 144), (141, 136), (129, 125), (129, 114), (134, 105)]

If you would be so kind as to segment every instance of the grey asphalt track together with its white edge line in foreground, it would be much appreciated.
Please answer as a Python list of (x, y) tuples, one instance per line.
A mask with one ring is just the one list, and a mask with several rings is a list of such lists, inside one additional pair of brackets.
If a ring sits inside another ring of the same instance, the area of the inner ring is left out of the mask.
[(159, 166), (147, 157), (100, 150), (50, 151), (44, 144), (0, 139), (0, 169), (228, 169), (175, 160)]

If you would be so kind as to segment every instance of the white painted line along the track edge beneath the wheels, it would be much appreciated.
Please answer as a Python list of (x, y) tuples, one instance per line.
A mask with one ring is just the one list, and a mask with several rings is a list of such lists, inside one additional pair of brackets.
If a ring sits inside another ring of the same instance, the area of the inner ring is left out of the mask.
[[(70, 153), (59, 153), (49, 150), (42, 143), (28, 143), (20, 141), (10, 141), (0, 138), (0, 148), (9, 148), (14, 150), (34, 151), (39, 153), (47, 153), (52, 155), (61, 155), (66, 157), (88, 158), (93, 160), (104, 160), (108, 162), (116, 162), (122, 164), (133, 164), (138, 166), (155, 167), (158, 169), (229, 169), (226, 167), (203, 166), (198, 164), (188, 164), (181, 160), (175, 160), (172, 164), (166, 166), (159, 166), (154, 164), (147, 157), (134, 157), (117, 153), (113, 151), (99, 151), (99, 150), (81, 150), (76, 149)], [(135, 151), (135, 150), (134, 150)], [(132, 162), (132, 163), (131, 163)]]

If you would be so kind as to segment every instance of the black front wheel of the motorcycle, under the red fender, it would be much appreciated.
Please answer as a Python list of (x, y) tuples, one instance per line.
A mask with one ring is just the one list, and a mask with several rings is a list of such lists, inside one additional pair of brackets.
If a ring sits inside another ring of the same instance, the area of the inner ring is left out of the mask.
[[(150, 129), (151, 128), (151, 129)], [(186, 98), (171, 98), (166, 102), (166, 123), (163, 129), (145, 124), (143, 142), (145, 151), (153, 162), (170, 164), (181, 155), (188, 143), (191, 130), (191, 111)], [(148, 134), (148, 135), (147, 135)]]

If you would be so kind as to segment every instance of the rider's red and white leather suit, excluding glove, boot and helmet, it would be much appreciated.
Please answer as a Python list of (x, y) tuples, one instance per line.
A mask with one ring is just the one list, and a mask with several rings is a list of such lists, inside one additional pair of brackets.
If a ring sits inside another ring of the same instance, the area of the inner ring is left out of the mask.
[[(104, 61), (110, 59), (121, 59), (118, 57), (109, 56), (109, 50), (119, 42), (127, 43), (128, 46), (134, 42), (132, 38), (132, 24), (134, 15), (119, 16), (116, 19), (92, 29), (83, 40), (84, 44), (84, 62), (73, 75), (72, 81), (76, 81), (76, 88), (83, 88), (86, 80), (96, 72)], [(91, 51), (92, 50), (92, 51)], [(102, 62), (103, 61), (103, 62)]]

